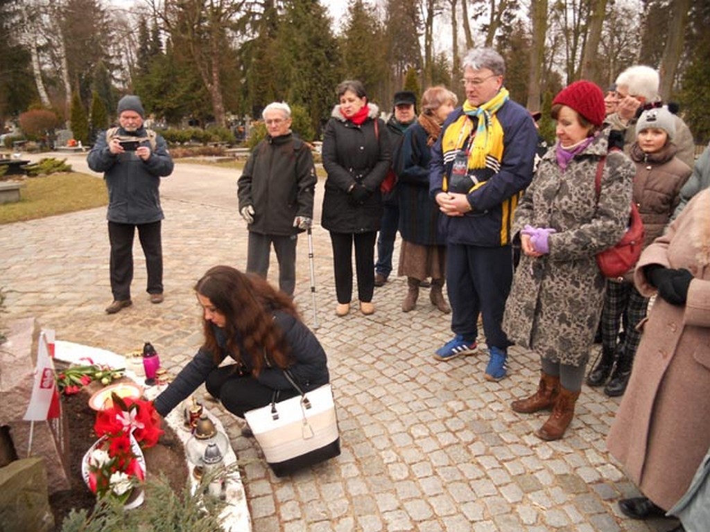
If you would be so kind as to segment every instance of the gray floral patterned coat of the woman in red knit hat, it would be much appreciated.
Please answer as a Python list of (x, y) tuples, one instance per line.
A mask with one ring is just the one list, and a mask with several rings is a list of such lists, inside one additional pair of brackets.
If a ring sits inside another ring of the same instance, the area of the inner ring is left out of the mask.
[[(552, 227), (550, 253), (523, 255), (515, 270), (503, 330), (546, 360), (580, 366), (589, 358), (603, 305), (605, 278), (594, 255), (621, 239), (628, 221), (635, 166), (621, 152), (608, 153), (602, 131), (562, 172), (547, 151), (515, 210), (513, 234), (526, 224)], [(599, 206), (594, 180), (607, 155)]]

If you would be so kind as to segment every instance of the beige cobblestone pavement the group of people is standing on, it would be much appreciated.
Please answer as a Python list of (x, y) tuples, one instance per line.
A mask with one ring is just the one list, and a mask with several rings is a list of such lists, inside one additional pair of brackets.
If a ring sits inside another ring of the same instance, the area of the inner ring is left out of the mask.
[[(82, 160), (70, 162), (79, 170)], [(235, 184), (234, 171), (176, 166), (163, 184), (165, 302), (153, 305), (143, 292), (145, 262), (136, 242), (133, 306), (113, 316), (104, 313), (111, 300), (104, 208), (0, 226), (3, 319), (35, 316), (55, 328), (58, 339), (116, 353), (150, 340), (163, 364), (177, 372), (201, 341), (195, 281), (218, 263), (246, 265)], [(200, 192), (190, 192), (195, 189)], [(499, 383), (484, 379), (484, 353), (436, 362), (431, 355), (451, 336), (450, 316), (430, 304), (426, 289), (415, 311), (403, 314), (404, 279), (376, 289), (372, 316), (362, 316), (354, 304), (349, 316), (337, 318), (329, 237), (320, 226), (313, 233), (316, 333), (329, 355), (342, 455), (278, 479), (255, 441), (241, 437), (239, 423), (222, 412), (244, 463), (254, 531), (613, 532), (674, 526), (662, 519), (631, 521), (618, 511), (617, 499), (638, 494), (606, 452), (618, 399), (584, 387), (568, 436), (552, 443), (535, 438), (532, 432), (545, 416), (515, 414), (509, 407), (537, 384), (532, 355), (513, 348), (510, 377)], [(307, 240), (298, 245), (295, 300), (312, 325)]]

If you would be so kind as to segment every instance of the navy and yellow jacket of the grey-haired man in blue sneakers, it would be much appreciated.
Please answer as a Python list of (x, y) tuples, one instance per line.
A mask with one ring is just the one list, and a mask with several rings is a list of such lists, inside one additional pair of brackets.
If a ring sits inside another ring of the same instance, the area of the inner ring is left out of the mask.
[[(537, 148), (537, 129), (530, 113), (508, 100), (496, 113), (503, 128), (502, 155), (486, 157), (486, 167), (471, 169), (476, 185), (466, 194), (473, 210), (464, 216), (442, 216), (439, 231), (449, 244), (479, 245), (493, 248), (510, 244), (513, 212), (523, 190), (532, 181), (532, 165)], [(439, 140), (432, 146), (429, 166), (429, 192), (435, 197), (444, 192), (451, 176), (454, 158), (465, 149), (470, 137), (461, 128), (476, 132), (476, 118), (466, 116), (461, 107), (454, 110), (442, 126)], [(452, 140), (456, 139), (456, 140)]]

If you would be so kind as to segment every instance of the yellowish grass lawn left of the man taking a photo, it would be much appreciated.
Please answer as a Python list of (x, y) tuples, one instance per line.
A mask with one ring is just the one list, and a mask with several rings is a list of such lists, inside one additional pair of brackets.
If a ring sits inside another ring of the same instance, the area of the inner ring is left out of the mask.
[(0, 204), (0, 223), (34, 220), (108, 203), (104, 180), (79, 172), (23, 179), (20, 201)]

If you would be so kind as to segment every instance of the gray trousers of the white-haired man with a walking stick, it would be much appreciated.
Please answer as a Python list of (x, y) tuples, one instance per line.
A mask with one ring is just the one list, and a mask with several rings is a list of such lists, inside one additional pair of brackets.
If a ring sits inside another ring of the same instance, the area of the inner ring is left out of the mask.
[(281, 292), (293, 297), (296, 287), (296, 244), (298, 235), (262, 235), (249, 231), (246, 251), (246, 271), (261, 275), (268, 273), (271, 244), (278, 260), (278, 287)]

